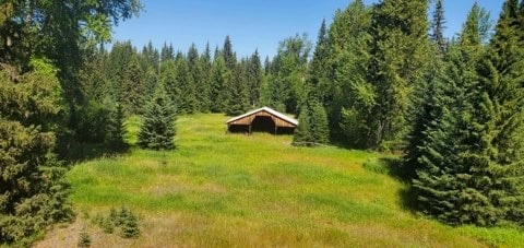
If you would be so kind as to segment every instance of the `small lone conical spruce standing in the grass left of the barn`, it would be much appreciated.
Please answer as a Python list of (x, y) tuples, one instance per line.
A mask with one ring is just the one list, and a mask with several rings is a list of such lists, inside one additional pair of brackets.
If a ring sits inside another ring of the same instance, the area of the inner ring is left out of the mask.
[(143, 123), (139, 131), (139, 145), (152, 150), (175, 149), (176, 109), (159, 84), (150, 103), (145, 106)]

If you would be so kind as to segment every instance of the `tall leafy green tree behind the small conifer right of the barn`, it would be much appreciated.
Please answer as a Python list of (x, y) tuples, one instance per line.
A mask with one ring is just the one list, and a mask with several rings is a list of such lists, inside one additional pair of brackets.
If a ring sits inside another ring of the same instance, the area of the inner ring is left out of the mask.
[[(329, 83), (319, 81), (326, 107), (331, 137), (352, 147), (371, 147), (376, 86), (369, 74), (371, 11), (362, 1), (337, 11), (329, 31), (329, 58), (323, 70)], [(323, 83), (322, 83), (323, 82)]]

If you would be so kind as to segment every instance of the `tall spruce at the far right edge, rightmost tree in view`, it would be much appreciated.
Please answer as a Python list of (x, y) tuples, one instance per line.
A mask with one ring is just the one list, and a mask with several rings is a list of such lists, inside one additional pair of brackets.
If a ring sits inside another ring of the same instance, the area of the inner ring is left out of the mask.
[(465, 161), (484, 173), (484, 180), (477, 184), (498, 216), (524, 225), (524, 48), (517, 2), (504, 2), (478, 68), (483, 94), (473, 118), (472, 139), (477, 146)]

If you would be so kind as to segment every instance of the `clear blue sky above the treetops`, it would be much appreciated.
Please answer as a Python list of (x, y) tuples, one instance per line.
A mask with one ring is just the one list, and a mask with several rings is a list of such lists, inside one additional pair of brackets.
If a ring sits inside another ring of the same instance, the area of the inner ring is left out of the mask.
[[(330, 24), (335, 10), (345, 9), (350, 0), (141, 1), (144, 11), (115, 27), (114, 40), (130, 39), (139, 49), (150, 40), (157, 48), (167, 42), (175, 50), (186, 52), (191, 43), (202, 51), (209, 42), (214, 50), (229, 35), (239, 57), (259, 49), (263, 59), (276, 54), (278, 42), (297, 33), (308, 34), (314, 44), (322, 19)], [(492, 20), (499, 17), (503, 0), (444, 0), (448, 37), (461, 31), (475, 1), (491, 13)]]

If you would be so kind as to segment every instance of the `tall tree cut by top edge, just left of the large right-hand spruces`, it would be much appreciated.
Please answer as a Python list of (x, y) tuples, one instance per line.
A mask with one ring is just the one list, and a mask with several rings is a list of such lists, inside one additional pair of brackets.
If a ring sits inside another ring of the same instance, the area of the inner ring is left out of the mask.
[(428, 0), (382, 0), (373, 13), (371, 64), (378, 101), (370, 123), (371, 145), (395, 149), (406, 129), (412, 92), (428, 64)]

